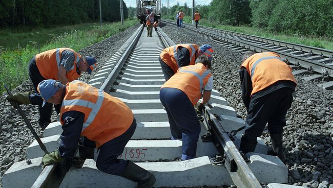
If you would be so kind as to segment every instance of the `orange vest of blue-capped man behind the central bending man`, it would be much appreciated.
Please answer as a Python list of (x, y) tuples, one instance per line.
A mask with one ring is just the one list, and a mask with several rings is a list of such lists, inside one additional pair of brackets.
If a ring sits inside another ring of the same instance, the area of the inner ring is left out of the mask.
[(199, 46), (197, 44), (177, 44), (170, 46), (162, 51), (160, 54), (160, 58), (164, 61), (167, 65), (169, 65), (175, 73), (179, 68), (177, 58), (177, 51), (179, 47), (183, 47), (189, 50), (190, 52), (190, 65), (195, 64), (195, 53), (198, 50)]

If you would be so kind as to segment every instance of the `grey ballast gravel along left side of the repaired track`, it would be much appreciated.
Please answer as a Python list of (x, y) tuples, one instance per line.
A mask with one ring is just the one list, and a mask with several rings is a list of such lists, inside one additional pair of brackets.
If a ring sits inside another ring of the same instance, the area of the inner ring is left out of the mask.
[[(97, 67), (92, 74), (83, 74), (79, 80), (89, 82), (89, 80), (98, 72), (98, 70), (112, 57), (114, 53), (127, 41), (136, 31), (139, 24), (130, 27), (122, 33), (115, 34), (105, 40), (87, 46), (78, 51), (82, 56), (90, 55), (96, 57)], [(28, 72), (27, 72), (28, 75)], [(2, 87), (2, 86), (1, 86)], [(21, 85), (12, 89), (15, 92), (34, 92), (30, 80), (24, 81)], [(6, 100), (4, 92), (0, 98), (0, 187), (2, 187), (2, 177), (7, 169), (14, 163), (26, 159), (27, 147), (33, 142), (34, 137), (28, 129), (26, 123)], [(39, 137), (43, 131), (38, 126), (38, 107), (33, 105), (20, 106), (28, 120), (36, 130)], [(52, 122), (56, 120), (56, 114), (52, 115)], [(51, 151), (49, 151), (51, 152)]]

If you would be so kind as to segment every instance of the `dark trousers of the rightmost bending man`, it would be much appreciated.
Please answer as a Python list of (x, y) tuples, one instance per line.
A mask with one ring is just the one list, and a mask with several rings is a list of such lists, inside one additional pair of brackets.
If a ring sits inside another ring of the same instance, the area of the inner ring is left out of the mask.
[(282, 133), (286, 125), (285, 115), (293, 102), (293, 89), (281, 88), (257, 99), (251, 99), (245, 120), (245, 132), (241, 140), (244, 153), (254, 152), (257, 137), (268, 122), (268, 131)]

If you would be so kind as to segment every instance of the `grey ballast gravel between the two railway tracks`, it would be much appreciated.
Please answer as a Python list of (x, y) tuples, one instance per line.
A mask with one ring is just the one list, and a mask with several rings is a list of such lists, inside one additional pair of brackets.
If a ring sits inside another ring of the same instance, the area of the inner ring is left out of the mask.
[[(196, 33), (160, 24), (162, 30), (176, 44), (211, 44), (213, 54), (214, 88), (245, 119), (246, 110), (241, 100), (238, 69), (242, 54), (198, 36)], [(294, 102), (286, 115), (284, 152), (289, 169), (289, 184), (303, 187), (333, 187), (333, 91), (324, 90), (321, 81), (304, 81), (296, 76), (298, 85)], [(261, 138), (270, 145), (264, 132)]]

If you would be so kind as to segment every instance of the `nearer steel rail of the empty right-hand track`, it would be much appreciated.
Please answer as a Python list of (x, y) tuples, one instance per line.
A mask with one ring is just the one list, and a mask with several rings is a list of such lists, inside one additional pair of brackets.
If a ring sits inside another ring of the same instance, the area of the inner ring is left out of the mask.
[[(165, 22), (175, 24), (172, 21), (165, 21)], [(189, 26), (189, 25), (186, 25), (186, 26)], [(311, 61), (311, 60), (303, 58), (303, 57), (298, 57), (298, 56), (295, 56), (292, 54), (280, 52), (280, 51), (277, 51), (277, 50), (274, 50), (271, 48), (266, 48), (264, 46), (244, 42), (244, 41), (236, 39), (236, 38), (222, 36), (219, 33), (212, 33), (209, 31), (196, 30), (196, 29), (192, 28), (192, 26), (186, 27), (185, 29), (189, 29), (191, 31), (201, 33), (203, 35), (211, 36), (211, 37), (223, 40), (225, 42), (229, 42), (229, 43), (241, 46), (244, 49), (248, 49), (248, 50), (252, 50), (252, 51), (256, 51), (256, 52), (275, 52), (275, 53), (279, 54), (281, 56), (281, 58), (285, 59), (285, 62), (292, 63), (296, 66), (304, 67), (311, 71), (313, 70), (314, 72), (317, 72), (319, 74), (327, 74), (327, 76), (333, 78), (333, 66), (330, 66), (330, 65)], [(333, 59), (332, 59), (332, 61), (333, 61)]]

